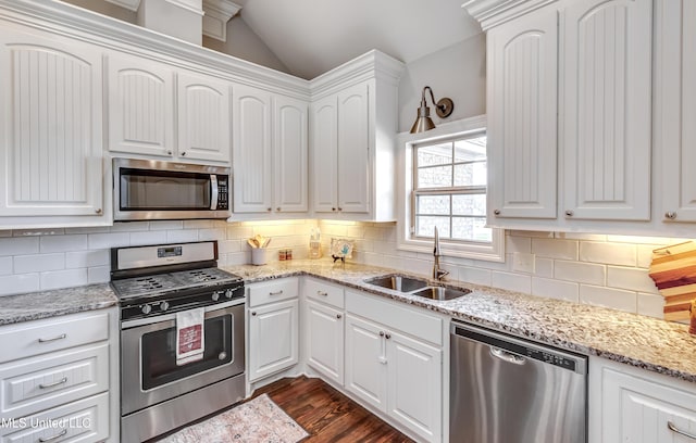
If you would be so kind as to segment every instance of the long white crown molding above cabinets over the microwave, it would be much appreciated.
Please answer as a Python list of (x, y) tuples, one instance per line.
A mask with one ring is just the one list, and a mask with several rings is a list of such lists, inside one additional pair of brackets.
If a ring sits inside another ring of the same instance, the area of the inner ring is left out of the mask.
[(2, 0), (1, 21), (49, 30), (302, 100), (310, 97), (309, 81), (302, 78), (61, 1)]

